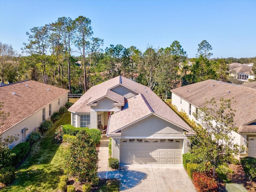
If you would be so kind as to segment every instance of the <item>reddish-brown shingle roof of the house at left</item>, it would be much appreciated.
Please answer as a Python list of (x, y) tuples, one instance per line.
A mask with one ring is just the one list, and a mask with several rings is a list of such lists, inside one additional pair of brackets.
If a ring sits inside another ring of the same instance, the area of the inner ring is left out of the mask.
[(0, 133), (7, 131), (52, 101), (60, 98), (69, 90), (48, 84), (27, 80), (0, 87), (0, 101), (4, 102), (2, 111), (10, 116), (1, 126)]

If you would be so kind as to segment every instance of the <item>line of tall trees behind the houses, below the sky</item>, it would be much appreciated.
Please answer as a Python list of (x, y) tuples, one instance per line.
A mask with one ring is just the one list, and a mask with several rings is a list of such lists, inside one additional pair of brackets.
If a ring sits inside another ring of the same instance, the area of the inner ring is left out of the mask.
[(93, 36), (91, 20), (84, 16), (58, 18), (30, 29), (27, 35), (22, 48), (27, 56), (19, 56), (12, 46), (0, 42), (2, 82), (31, 79), (82, 93), (122, 75), (167, 95), (173, 88), (207, 79), (235, 82), (226, 73), (228, 63), (256, 63), (256, 58), (210, 59), (212, 46), (206, 40), (198, 44), (196, 58), (190, 59), (177, 40), (166, 48), (148, 45), (144, 52), (120, 44), (102, 50), (103, 40)]

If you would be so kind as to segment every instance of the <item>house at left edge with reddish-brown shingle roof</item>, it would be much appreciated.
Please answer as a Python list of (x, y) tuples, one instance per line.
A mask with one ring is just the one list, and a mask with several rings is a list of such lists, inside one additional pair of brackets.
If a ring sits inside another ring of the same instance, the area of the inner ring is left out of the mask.
[(27, 80), (0, 87), (3, 112), (9, 113), (0, 126), (0, 140), (7, 135), (18, 137), (11, 147), (25, 142), (29, 134), (37, 131), (42, 122), (64, 106), (68, 90)]

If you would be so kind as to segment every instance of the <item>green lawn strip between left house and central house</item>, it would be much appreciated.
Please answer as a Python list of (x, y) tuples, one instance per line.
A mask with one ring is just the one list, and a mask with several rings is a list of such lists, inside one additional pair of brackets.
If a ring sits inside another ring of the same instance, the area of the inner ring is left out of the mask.
[(36, 142), (27, 160), (18, 168), (14, 182), (2, 192), (52, 192), (57, 191), (62, 162), (66, 152), (65, 144), (54, 142), (55, 129), (62, 124), (70, 124), (70, 112), (62, 115), (54, 126)]

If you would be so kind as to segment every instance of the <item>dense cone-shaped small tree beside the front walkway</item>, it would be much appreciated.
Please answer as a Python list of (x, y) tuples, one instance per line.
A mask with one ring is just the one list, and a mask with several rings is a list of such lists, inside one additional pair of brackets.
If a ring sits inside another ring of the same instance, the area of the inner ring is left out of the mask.
[(98, 155), (96, 146), (86, 130), (76, 135), (65, 157), (65, 172), (77, 176), (80, 181), (90, 181), (97, 176)]

